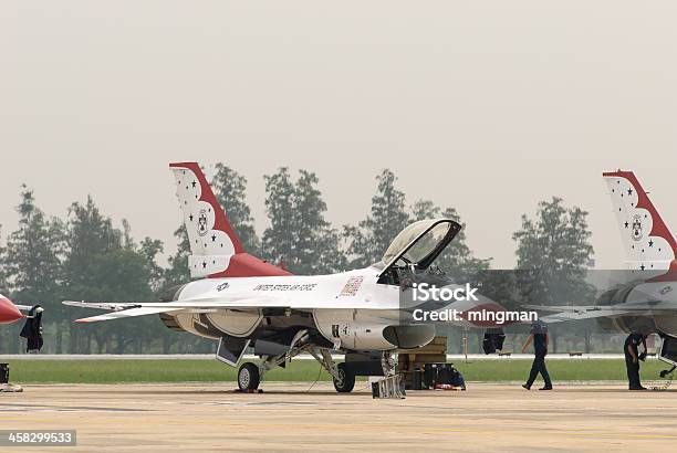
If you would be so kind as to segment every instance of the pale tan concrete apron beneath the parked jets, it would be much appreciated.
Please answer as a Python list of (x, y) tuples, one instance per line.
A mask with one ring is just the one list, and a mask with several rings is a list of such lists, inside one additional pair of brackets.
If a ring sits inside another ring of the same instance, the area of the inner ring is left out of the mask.
[[(25, 386), (0, 393), (2, 430), (77, 430), (77, 451), (646, 451), (677, 449), (677, 391), (470, 383), (373, 400), (367, 382)], [(4, 451), (34, 451), (29, 447)], [(63, 451), (43, 447), (42, 451)], [(37, 451), (37, 450), (35, 450)]]

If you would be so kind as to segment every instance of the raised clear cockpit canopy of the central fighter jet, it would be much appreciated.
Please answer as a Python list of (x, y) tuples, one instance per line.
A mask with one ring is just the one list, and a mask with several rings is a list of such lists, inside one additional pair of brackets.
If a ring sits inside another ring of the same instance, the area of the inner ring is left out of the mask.
[(399, 285), (406, 274), (427, 270), (458, 234), (461, 225), (449, 219), (428, 219), (412, 223), (390, 243), (377, 267), (378, 283)]

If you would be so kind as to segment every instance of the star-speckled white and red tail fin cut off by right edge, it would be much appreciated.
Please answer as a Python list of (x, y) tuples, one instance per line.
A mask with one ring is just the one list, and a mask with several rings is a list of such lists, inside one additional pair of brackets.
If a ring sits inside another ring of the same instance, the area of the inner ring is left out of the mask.
[(628, 256), (628, 267), (643, 271), (670, 268), (677, 255), (677, 242), (635, 175), (618, 170), (603, 176)]

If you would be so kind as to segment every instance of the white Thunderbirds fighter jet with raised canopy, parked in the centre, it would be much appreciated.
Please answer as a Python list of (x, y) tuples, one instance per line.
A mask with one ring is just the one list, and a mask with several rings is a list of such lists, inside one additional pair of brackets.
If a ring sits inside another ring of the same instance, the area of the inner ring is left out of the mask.
[[(434, 325), (415, 323), (410, 310), (402, 309), (403, 294), (410, 277), (425, 273), (454, 240), (459, 223), (419, 221), (393, 240), (378, 263), (298, 276), (247, 253), (198, 164), (169, 167), (190, 241), (191, 276), (200, 280), (170, 288), (159, 302), (64, 301), (111, 310), (77, 322), (159, 315), (170, 329), (218, 340), (216, 358), (231, 366), (251, 348), (260, 361), (240, 366), (242, 390), (257, 389), (268, 370), (305, 352), (331, 373), (336, 391), (350, 392), (355, 376), (392, 376), (395, 350), (435, 337)], [(501, 309), (480, 298), (465, 304), (465, 312), (477, 306)], [(344, 352), (345, 360), (336, 364), (333, 350)]]

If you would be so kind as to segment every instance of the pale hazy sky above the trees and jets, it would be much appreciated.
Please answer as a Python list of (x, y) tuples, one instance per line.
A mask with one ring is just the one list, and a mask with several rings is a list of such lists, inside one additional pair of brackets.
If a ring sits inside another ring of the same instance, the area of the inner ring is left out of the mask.
[(635, 170), (677, 228), (676, 23), (674, 1), (0, 0), (3, 236), (21, 182), (50, 214), (91, 193), (171, 251), (170, 161), (247, 176), (259, 231), (277, 167), (316, 171), (335, 224), (388, 167), (497, 267), (553, 194), (617, 267), (602, 171)]

